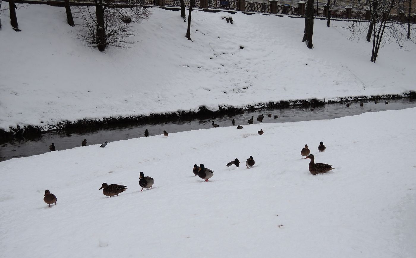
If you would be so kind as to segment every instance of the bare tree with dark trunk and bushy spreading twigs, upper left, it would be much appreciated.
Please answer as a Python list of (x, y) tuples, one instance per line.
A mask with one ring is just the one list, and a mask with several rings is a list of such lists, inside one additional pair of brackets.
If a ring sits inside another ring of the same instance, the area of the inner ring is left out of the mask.
[(131, 23), (148, 19), (151, 12), (140, 0), (125, 0), (122, 7), (113, 0), (95, 0), (95, 6), (77, 7), (75, 15), (82, 20), (79, 38), (97, 46), (99, 51), (107, 46), (127, 47), (134, 43), (131, 39), (136, 34)]

